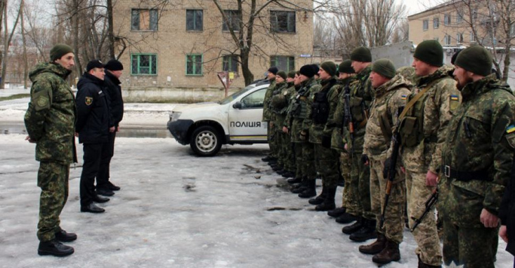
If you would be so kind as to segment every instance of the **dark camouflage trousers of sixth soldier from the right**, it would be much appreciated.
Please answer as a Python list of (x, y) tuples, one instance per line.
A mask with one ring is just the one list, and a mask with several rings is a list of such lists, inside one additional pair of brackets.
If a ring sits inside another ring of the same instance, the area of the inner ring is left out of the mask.
[(340, 178), (338, 162), (336, 150), (325, 148), (322, 144), (314, 144), (314, 166), (322, 177), (323, 187), (336, 187)]

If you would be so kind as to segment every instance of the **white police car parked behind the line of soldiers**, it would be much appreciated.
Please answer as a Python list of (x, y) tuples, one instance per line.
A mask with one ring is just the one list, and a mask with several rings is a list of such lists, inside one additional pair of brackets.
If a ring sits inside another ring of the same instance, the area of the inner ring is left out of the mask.
[(262, 115), (268, 85), (268, 81), (249, 85), (220, 102), (175, 107), (168, 130), (199, 156), (216, 155), (222, 144), (266, 143)]

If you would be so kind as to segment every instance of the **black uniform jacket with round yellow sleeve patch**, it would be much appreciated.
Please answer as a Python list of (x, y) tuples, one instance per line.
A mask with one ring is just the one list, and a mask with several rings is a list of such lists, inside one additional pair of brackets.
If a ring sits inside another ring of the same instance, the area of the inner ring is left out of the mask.
[(77, 123), (76, 131), (79, 133), (79, 143), (108, 142), (111, 114), (104, 81), (84, 73), (77, 83)]

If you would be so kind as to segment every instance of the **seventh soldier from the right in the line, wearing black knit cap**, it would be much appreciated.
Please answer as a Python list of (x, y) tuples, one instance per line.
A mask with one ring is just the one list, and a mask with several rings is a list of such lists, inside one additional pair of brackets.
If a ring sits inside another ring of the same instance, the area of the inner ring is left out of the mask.
[[(311, 125), (311, 119), (308, 118), (308, 110), (311, 109), (310, 94), (312, 92), (319, 91), (320, 85), (314, 80), (313, 76), (315, 70), (312, 65), (304, 65), (299, 70), (299, 82), (300, 89), (294, 97), (293, 104), (291, 107), (291, 113), (294, 118), (294, 124), (291, 126), (291, 135), (293, 141), (305, 142), (302, 145), (302, 160), (301, 168), (302, 174), (302, 185), (304, 187), (299, 188), (299, 197), (309, 198), (317, 195), (315, 189), (317, 184), (315, 178), (317, 172), (314, 167), (314, 146), (308, 142), (309, 139), (309, 126)], [(295, 119), (300, 119), (295, 122)], [(297, 124), (295, 124), (297, 123)], [(300, 123), (300, 124), (299, 124)]]

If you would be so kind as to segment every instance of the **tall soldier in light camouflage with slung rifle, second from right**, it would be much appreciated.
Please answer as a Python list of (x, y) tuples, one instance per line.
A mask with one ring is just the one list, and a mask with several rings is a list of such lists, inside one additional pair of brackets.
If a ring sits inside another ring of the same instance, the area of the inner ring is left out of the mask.
[[(442, 145), (453, 110), (459, 106), (456, 82), (443, 66), (444, 50), (438, 41), (424, 41), (413, 54), (417, 85), (400, 115), (402, 164), (406, 170), (409, 226), (425, 210), (437, 181)], [(389, 159), (387, 159), (389, 163)], [(385, 164), (385, 166), (389, 166)], [(428, 215), (434, 214), (433, 208)], [(414, 230), (418, 267), (440, 267), (442, 252), (435, 217), (426, 216)]]

